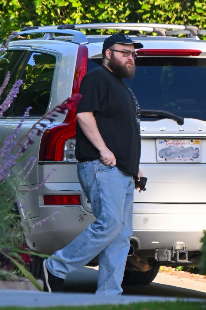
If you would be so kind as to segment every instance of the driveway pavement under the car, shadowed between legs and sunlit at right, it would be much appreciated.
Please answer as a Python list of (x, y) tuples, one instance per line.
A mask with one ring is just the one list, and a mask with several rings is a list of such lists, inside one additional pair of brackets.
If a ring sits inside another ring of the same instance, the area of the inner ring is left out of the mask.
[[(65, 290), (73, 293), (95, 293), (97, 268), (84, 267), (68, 275)], [(206, 278), (188, 277), (184, 272), (159, 272), (149, 285), (123, 286), (123, 295), (167, 296), (206, 299)]]

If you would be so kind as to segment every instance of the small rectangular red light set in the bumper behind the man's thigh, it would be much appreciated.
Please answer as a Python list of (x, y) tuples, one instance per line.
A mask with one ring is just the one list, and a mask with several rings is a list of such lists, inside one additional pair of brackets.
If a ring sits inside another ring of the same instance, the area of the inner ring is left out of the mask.
[(80, 205), (79, 195), (44, 195), (44, 205)]

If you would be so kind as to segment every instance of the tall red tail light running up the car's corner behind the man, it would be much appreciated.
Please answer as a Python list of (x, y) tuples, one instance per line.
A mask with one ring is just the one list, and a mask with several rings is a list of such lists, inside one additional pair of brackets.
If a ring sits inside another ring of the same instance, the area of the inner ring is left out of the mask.
[[(87, 72), (88, 50), (85, 45), (79, 45), (74, 73), (72, 95), (79, 92), (83, 76)], [(70, 111), (63, 123), (44, 131), (40, 144), (40, 161), (62, 161), (65, 141), (76, 135), (76, 110)]]

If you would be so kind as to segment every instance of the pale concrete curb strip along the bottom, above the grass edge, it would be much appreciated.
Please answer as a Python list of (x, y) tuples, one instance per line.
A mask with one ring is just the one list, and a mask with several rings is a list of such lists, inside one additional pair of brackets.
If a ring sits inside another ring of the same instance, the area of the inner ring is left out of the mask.
[[(12, 296), (12, 298), (11, 298)], [(176, 301), (175, 297), (156, 296), (100, 296), (95, 294), (46, 293), (36, 291), (0, 291), (0, 308), (3, 306), (50, 307), (50, 306), (88, 306), (103, 304), (130, 304), (147, 301)], [(206, 302), (203, 299), (183, 298), (181, 301)]]

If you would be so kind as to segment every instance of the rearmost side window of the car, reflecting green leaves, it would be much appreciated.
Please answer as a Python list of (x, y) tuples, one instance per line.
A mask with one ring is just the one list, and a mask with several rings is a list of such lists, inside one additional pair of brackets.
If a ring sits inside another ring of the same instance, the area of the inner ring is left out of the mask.
[(32, 52), (19, 78), (23, 80), (10, 115), (21, 116), (28, 106), (30, 115), (41, 116), (48, 107), (56, 64), (54, 55)]

